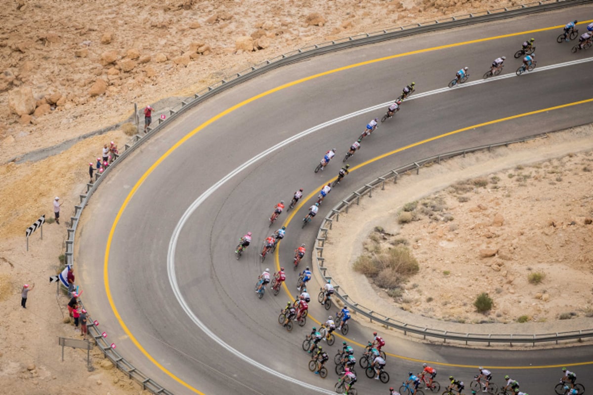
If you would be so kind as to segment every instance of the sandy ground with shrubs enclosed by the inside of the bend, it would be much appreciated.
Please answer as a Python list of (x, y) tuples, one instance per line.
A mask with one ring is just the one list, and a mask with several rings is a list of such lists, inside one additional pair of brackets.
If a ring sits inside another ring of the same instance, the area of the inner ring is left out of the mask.
[[(329, 273), (353, 301), (416, 325), (482, 333), (524, 316), (526, 323), (506, 325), (503, 333), (590, 327), (592, 137), (592, 126), (578, 127), (450, 159), (387, 184), (334, 222), (323, 254)], [(398, 223), (412, 202), (414, 219)], [(377, 226), (388, 235), (373, 232)], [(390, 297), (351, 267), (362, 253), (402, 239), (420, 271)], [(540, 284), (528, 281), (534, 272), (545, 275)], [(486, 314), (473, 306), (482, 292), (494, 300)], [(571, 321), (558, 320), (562, 313)]]

